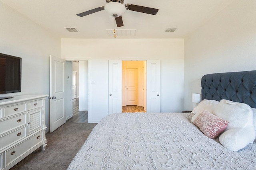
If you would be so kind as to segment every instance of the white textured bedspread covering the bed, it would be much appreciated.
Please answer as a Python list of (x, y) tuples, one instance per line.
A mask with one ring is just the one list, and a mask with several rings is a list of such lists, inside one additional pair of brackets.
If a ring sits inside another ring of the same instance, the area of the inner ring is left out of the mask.
[(233, 152), (191, 123), (192, 113), (106, 116), (71, 162), (70, 170), (255, 169), (256, 143)]

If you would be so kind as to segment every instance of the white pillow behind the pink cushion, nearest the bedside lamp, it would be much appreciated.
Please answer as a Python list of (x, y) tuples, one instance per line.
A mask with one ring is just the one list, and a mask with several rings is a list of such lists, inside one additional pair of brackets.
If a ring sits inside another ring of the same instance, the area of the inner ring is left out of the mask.
[(192, 113), (194, 113), (195, 115), (192, 116), (191, 121), (194, 122), (194, 120), (196, 119), (196, 117), (198, 117), (198, 115), (200, 115), (200, 113), (202, 113), (204, 110), (209, 111), (210, 113), (214, 114), (214, 108), (216, 107), (216, 105), (219, 102), (216, 100), (207, 100), (204, 99), (202, 102), (200, 102), (200, 104), (198, 104), (198, 106), (196, 106), (193, 110)]

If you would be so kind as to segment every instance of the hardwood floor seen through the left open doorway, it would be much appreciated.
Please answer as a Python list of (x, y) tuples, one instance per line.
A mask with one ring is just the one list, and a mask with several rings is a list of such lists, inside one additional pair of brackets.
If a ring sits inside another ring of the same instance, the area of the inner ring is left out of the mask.
[(73, 117), (67, 123), (88, 123), (88, 111), (78, 111), (79, 98), (73, 99)]

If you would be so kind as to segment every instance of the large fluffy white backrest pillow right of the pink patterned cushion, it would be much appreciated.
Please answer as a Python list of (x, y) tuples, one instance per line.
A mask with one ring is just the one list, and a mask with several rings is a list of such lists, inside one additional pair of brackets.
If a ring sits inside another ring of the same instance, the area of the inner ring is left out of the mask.
[(250, 106), (221, 100), (215, 107), (214, 114), (229, 121), (228, 127), (219, 137), (219, 141), (224, 147), (236, 151), (254, 141), (255, 131)]

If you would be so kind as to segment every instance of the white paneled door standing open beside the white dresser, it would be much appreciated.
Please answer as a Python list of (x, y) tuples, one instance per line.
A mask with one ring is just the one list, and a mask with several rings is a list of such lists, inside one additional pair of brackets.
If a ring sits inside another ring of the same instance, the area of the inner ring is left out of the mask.
[(50, 55), (50, 132), (66, 123), (66, 61)]

